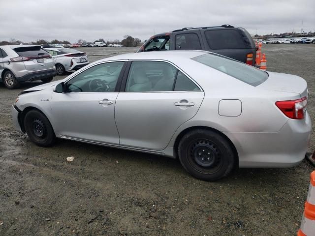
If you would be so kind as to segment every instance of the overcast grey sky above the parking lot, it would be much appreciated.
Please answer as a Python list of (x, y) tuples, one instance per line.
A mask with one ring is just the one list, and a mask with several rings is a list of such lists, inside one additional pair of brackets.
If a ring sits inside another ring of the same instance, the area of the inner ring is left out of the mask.
[(0, 0), (0, 41), (141, 40), (184, 27), (241, 26), (251, 34), (315, 30), (315, 0)]

